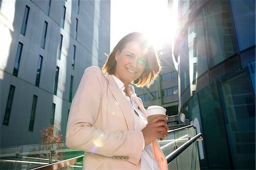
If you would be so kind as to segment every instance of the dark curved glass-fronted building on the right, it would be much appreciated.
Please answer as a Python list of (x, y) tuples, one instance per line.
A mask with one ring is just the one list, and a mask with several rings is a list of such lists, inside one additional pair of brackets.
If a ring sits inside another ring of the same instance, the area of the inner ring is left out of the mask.
[(179, 112), (201, 169), (255, 169), (255, 1), (179, 1)]

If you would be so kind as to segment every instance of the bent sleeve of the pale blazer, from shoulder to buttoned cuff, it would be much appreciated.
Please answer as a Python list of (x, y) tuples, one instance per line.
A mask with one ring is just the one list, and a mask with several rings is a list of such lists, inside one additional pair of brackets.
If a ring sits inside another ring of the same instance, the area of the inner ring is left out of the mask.
[(93, 126), (104, 88), (108, 82), (100, 68), (85, 69), (69, 111), (66, 145), (107, 157), (129, 156), (127, 161), (138, 164), (143, 150), (141, 131), (110, 132)]

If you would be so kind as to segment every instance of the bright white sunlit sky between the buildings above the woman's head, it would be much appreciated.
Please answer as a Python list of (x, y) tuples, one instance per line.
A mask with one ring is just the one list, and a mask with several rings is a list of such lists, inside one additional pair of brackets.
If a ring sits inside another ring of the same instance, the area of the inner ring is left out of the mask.
[[(151, 40), (155, 49), (170, 42), (176, 26), (168, 0), (112, 0), (110, 51), (130, 32), (138, 31)], [(176, 14), (174, 12), (174, 14)]]

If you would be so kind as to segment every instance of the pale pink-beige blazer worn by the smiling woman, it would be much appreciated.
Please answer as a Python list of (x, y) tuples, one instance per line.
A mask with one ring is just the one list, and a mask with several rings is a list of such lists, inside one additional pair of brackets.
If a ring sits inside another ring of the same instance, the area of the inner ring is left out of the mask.
[[(104, 75), (98, 67), (85, 69), (66, 133), (69, 148), (85, 151), (84, 169), (141, 168), (143, 134), (134, 131), (133, 111), (111, 75)], [(157, 150), (156, 160), (166, 164)]]

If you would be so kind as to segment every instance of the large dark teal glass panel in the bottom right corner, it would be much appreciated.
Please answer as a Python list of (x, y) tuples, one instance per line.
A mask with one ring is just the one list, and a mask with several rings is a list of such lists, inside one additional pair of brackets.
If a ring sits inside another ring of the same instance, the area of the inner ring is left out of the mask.
[(221, 83), (234, 169), (255, 169), (255, 96), (247, 72)]

